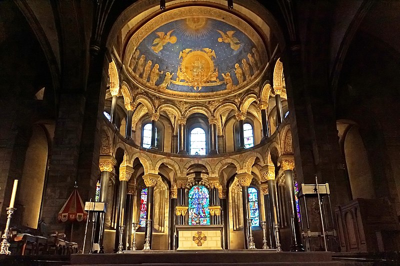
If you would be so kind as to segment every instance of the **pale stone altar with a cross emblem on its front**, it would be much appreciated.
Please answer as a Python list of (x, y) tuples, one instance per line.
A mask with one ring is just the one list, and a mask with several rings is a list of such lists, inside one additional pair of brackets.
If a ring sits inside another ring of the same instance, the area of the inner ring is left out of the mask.
[(222, 250), (222, 225), (176, 225), (177, 250)]

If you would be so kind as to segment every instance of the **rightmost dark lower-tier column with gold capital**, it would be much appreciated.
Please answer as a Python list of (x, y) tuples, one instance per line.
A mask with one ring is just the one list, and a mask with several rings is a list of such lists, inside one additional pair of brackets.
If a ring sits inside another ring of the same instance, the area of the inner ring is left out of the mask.
[(293, 157), (281, 157), (280, 165), (282, 167), (286, 183), (286, 200), (287, 200), (286, 205), (288, 206), (290, 213), (290, 225), (292, 231), (291, 232), (292, 245), (290, 251), (304, 251), (303, 245), (301, 244), (301, 231), (300, 231), (300, 225), (297, 220), (296, 201), (294, 198)]

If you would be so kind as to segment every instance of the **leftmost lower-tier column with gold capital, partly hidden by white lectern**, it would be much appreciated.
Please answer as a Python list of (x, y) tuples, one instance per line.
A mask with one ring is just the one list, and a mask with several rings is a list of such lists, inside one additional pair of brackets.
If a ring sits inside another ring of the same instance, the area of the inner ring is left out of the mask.
[[(100, 178), (100, 195), (99, 200), (100, 202), (106, 202), (107, 194), (108, 194), (108, 182), (109, 182), (109, 174), (114, 169), (116, 164), (116, 160), (114, 157), (109, 155), (100, 155), (100, 159), (98, 162), (98, 166), (101, 171), (101, 178)], [(104, 213), (100, 213), (97, 215), (97, 226), (98, 226), (98, 234), (96, 233), (94, 237), (94, 243), (98, 243), (100, 246), (99, 253), (104, 253), (103, 247), (103, 237), (104, 237)]]

